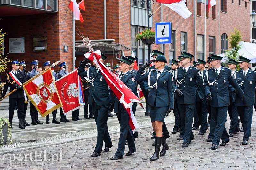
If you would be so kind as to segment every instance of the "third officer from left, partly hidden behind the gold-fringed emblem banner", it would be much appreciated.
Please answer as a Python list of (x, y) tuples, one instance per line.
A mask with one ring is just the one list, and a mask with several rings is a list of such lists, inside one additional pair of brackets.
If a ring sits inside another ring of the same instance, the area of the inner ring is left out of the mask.
[[(38, 68), (38, 60), (34, 60), (30, 63), (32, 70), (28, 72), (27, 80), (31, 79), (32, 77), (37, 75), (37, 68)], [(37, 125), (37, 124), (43, 124), (38, 120), (38, 111), (36, 110), (36, 107), (31, 103), (30, 101), (30, 116), (32, 119), (31, 124)]]

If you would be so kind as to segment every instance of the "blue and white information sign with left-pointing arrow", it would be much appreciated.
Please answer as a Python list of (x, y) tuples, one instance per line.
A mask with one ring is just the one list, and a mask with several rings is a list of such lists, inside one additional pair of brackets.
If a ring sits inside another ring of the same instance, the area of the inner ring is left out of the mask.
[(155, 24), (156, 44), (172, 44), (172, 23), (160, 22)]

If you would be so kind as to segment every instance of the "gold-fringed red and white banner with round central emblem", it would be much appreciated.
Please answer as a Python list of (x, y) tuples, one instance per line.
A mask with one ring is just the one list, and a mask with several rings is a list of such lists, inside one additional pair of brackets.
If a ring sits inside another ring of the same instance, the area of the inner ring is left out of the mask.
[(42, 117), (62, 106), (52, 77), (51, 69), (32, 78), (23, 86), (29, 100)]

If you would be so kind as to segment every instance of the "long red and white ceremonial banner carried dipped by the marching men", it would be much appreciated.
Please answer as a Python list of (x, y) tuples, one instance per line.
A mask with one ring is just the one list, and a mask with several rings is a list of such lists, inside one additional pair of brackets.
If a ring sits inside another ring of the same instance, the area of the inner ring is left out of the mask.
[(125, 110), (128, 112), (130, 117), (129, 125), (133, 133), (138, 132), (140, 127), (132, 112), (131, 106), (133, 105), (132, 102), (138, 102), (140, 106), (144, 109), (142, 103), (140, 102), (140, 99), (138, 99), (138, 97), (133, 94), (131, 89), (129, 89), (122, 81), (120, 81), (119, 78), (116, 77), (116, 75), (108, 69), (108, 67), (106, 67), (102, 62), (99, 61), (101, 56), (100, 50), (97, 50), (93, 53), (86, 53), (84, 54), (84, 56), (89, 60), (93, 61), (100, 69), (100, 72), (108, 83), (108, 86), (119, 99), (120, 103), (122, 103)]

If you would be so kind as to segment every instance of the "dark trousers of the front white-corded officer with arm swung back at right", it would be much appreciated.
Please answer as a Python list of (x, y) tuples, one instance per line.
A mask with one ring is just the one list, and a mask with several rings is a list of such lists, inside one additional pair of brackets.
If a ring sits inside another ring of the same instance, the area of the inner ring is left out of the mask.
[(229, 142), (228, 132), (225, 128), (228, 106), (212, 107), (211, 110), (210, 131), (213, 134), (212, 144), (219, 145), (220, 138), (222, 142)]

